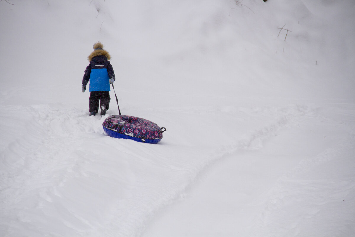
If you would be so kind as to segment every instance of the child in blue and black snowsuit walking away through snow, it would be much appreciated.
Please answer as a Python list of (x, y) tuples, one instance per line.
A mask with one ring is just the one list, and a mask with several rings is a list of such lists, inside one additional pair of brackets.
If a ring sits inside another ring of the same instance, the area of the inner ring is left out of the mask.
[(89, 115), (96, 115), (99, 110), (101, 115), (105, 115), (110, 105), (110, 83), (115, 79), (113, 67), (110, 64), (111, 56), (104, 50), (104, 45), (97, 42), (93, 46), (94, 51), (88, 56), (89, 66), (87, 66), (83, 81), (82, 92), (86, 90), (86, 85), (90, 80), (89, 91)]

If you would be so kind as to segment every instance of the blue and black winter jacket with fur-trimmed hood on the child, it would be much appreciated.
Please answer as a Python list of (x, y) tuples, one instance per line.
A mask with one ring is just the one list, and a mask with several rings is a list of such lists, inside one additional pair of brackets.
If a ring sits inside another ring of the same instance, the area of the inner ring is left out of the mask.
[(86, 86), (90, 81), (89, 91), (110, 91), (109, 79), (115, 80), (113, 67), (108, 61), (110, 58), (103, 49), (95, 49), (88, 56), (90, 63), (85, 69), (82, 84)]

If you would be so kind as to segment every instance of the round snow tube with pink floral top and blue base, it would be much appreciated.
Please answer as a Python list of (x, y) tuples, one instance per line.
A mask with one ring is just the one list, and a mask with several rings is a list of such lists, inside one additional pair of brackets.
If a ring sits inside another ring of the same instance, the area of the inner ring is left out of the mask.
[(166, 131), (147, 119), (127, 115), (111, 115), (105, 119), (102, 126), (110, 137), (153, 144), (162, 140), (163, 132)]

